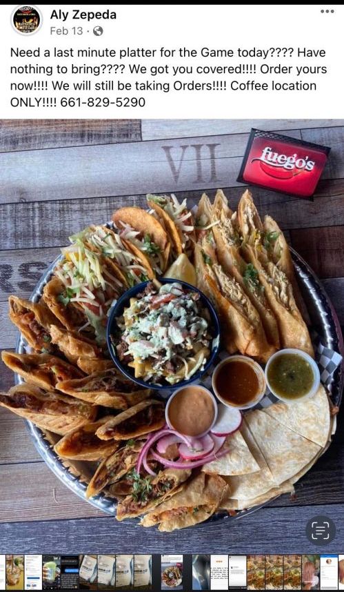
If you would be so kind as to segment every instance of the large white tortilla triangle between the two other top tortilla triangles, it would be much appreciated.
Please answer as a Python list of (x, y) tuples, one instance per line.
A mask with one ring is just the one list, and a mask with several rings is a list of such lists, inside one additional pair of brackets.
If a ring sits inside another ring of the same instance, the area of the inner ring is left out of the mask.
[(321, 451), (321, 446), (281, 426), (263, 411), (247, 413), (245, 422), (277, 485), (294, 477)]

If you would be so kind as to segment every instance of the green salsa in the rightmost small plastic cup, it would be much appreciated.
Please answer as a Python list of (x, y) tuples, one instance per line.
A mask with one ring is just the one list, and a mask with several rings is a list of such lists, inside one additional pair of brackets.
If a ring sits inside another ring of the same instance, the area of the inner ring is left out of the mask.
[(296, 353), (278, 355), (267, 369), (267, 379), (276, 395), (299, 399), (310, 392), (314, 373), (306, 359)]

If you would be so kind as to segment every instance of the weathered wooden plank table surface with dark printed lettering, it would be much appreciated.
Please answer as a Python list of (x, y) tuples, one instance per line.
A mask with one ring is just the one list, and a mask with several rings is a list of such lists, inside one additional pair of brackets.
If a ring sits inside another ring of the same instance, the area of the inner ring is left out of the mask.
[[(3, 120), (0, 126), (0, 349), (14, 348), (17, 337), (8, 295), (28, 297), (72, 233), (110, 219), (121, 204), (143, 203), (148, 192), (197, 199), (222, 187), (235, 207), (252, 126), (332, 147), (314, 201), (252, 192), (261, 213), (276, 218), (321, 277), (344, 325), (344, 121)], [(1, 390), (12, 384), (2, 365)], [(163, 534), (118, 523), (83, 502), (41, 460), (23, 421), (0, 408), (0, 553), (312, 552), (305, 523), (317, 514), (332, 517), (337, 535), (316, 549), (344, 553), (343, 415), (334, 443), (303, 477), (295, 499), (284, 495), (236, 520)]]

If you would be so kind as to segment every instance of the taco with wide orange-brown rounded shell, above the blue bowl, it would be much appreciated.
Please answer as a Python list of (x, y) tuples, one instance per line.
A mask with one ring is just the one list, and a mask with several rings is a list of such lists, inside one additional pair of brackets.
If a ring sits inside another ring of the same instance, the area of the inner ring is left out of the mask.
[(112, 220), (124, 244), (135, 255), (142, 253), (146, 269), (162, 275), (168, 266), (171, 245), (160, 222), (141, 208), (120, 208), (112, 215)]

